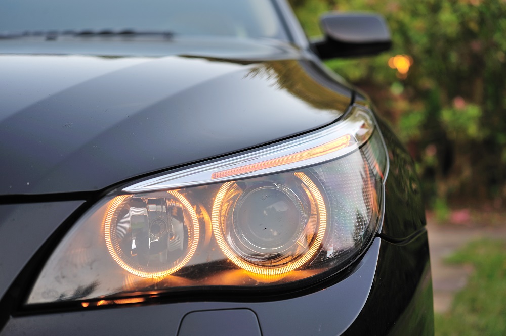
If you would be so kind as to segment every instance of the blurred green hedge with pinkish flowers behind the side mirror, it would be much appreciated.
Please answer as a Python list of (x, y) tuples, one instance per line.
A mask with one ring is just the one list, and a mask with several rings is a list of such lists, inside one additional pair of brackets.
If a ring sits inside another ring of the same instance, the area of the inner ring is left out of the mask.
[[(327, 11), (378, 12), (393, 49), (327, 65), (367, 92), (417, 162), (428, 205), (506, 201), (505, 0), (290, 0), (308, 36)], [(389, 66), (413, 63), (407, 76)], [(447, 211), (446, 211), (447, 212)]]

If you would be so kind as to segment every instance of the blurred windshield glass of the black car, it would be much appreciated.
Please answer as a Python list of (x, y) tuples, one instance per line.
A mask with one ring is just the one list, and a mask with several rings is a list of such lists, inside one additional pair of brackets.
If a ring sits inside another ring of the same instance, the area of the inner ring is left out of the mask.
[(164, 32), (286, 39), (271, 0), (3, 0), (0, 34)]

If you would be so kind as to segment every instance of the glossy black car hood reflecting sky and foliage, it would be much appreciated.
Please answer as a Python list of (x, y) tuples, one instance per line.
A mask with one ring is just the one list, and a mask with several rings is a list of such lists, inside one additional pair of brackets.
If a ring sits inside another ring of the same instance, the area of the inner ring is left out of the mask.
[(104, 189), (321, 127), (351, 91), (316, 69), (297, 59), (0, 56), (0, 195)]

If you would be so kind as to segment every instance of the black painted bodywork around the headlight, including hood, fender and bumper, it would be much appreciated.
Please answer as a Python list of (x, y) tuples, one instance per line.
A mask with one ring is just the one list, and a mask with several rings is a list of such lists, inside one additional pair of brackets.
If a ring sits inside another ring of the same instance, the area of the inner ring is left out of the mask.
[[(279, 295), (218, 288), (110, 307), (25, 305), (55, 247), (109, 191), (316, 130), (352, 103), (370, 106), (325, 70), (287, 3), (273, 3), (291, 43), (0, 41), (0, 203), (8, 203), (0, 205), (0, 335), (176, 336), (188, 314), (225, 321), (229, 310), (247, 313), (244, 323), (255, 324), (254, 314), (263, 335), (434, 333), (419, 182), (381, 119), (390, 161), (381, 230), (332, 276)], [(199, 325), (195, 336), (210, 330)]]

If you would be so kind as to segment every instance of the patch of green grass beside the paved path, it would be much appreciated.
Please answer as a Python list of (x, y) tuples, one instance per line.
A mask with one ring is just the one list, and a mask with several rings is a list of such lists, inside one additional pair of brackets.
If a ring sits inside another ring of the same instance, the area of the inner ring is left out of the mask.
[(447, 259), (474, 267), (451, 309), (436, 314), (436, 335), (506, 335), (506, 243), (480, 240)]

